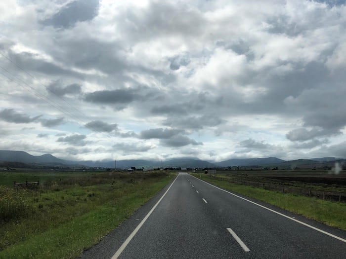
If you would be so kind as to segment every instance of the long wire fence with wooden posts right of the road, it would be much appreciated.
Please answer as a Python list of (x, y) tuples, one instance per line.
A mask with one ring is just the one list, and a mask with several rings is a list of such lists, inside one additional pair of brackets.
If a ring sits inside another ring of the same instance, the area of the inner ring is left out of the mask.
[[(216, 177), (216, 176), (213, 176), (213, 177)], [(271, 183), (230, 180), (223, 177), (216, 177), (216, 178), (219, 178), (224, 181), (228, 181), (230, 183), (234, 183), (237, 185), (248, 185), (248, 186), (253, 186), (257, 188), (263, 188), (266, 190), (279, 191), (282, 193), (292, 193), (292, 194), (299, 194), (299, 195), (304, 195), (308, 197), (316, 197), (318, 199), (323, 199), (323, 200), (346, 202), (346, 193), (343, 193), (343, 192), (322, 191), (322, 190), (294, 187), (289, 185), (278, 185), (278, 184), (271, 184)]]

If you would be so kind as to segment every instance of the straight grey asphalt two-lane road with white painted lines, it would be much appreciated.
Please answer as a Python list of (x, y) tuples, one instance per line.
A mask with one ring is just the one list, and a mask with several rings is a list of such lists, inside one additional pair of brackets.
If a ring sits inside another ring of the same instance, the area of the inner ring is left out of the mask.
[(81, 258), (346, 258), (346, 232), (179, 173)]

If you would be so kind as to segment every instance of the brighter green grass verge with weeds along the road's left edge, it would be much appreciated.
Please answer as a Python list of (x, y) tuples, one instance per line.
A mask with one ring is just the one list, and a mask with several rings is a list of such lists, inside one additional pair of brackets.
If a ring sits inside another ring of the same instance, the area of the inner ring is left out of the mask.
[(74, 179), (32, 191), (34, 213), (0, 225), (0, 258), (76, 258), (171, 180), (168, 174), (100, 175), (96, 185), (87, 178), (76, 186)]

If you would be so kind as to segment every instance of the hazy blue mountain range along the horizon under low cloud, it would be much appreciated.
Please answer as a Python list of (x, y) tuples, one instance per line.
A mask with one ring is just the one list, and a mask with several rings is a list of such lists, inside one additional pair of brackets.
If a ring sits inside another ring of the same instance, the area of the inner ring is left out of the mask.
[(343, 158), (324, 157), (312, 159), (298, 159), (285, 161), (276, 157), (266, 158), (247, 158), (247, 159), (229, 159), (221, 162), (208, 162), (198, 158), (173, 158), (170, 160), (154, 161), (143, 159), (132, 160), (102, 160), (102, 161), (70, 161), (59, 159), (51, 154), (34, 156), (25, 151), (0, 150), (0, 162), (20, 162), (25, 164), (43, 164), (50, 166), (89, 166), (106, 168), (213, 168), (213, 167), (232, 167), (232, 166), (280, 166), (283, 168), (292, 168), (302, 165), (316, 165), (321, 163), (330, 163)]

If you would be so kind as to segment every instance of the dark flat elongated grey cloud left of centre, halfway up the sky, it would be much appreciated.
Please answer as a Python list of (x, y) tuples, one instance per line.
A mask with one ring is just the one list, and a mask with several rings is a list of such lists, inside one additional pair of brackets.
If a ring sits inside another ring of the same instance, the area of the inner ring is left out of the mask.
[(98, 104), (128, 104), (136, 95), (131, 89), (103, 90), (87, 93), (84, 100)]

